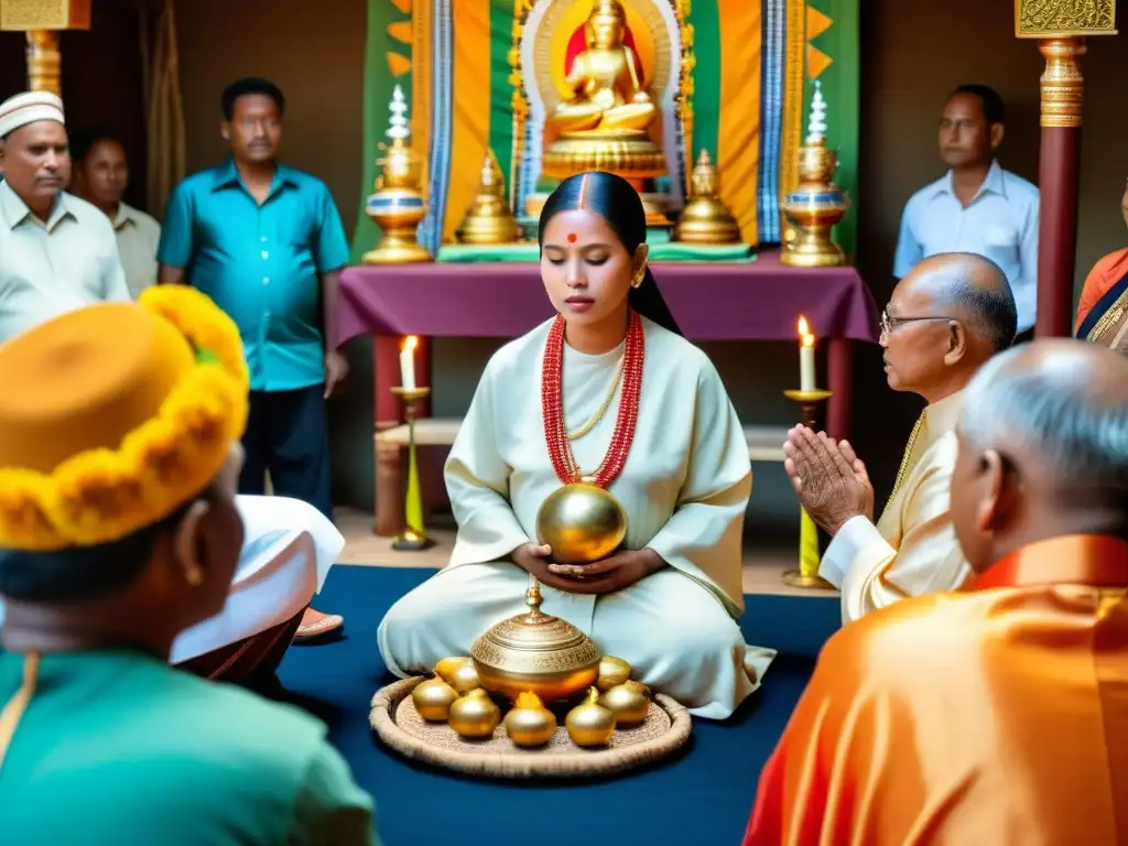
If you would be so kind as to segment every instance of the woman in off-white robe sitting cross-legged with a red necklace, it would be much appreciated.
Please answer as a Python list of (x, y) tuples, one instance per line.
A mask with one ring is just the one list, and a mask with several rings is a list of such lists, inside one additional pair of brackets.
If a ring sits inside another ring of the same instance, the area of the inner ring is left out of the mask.
[[(468, 654), (525, 608), (531, 573), (545, 613), (695, 715), (724, 719), (759, 685), (774, 653), (735, 623), (748, 448), (716, 370), (678, 334), (645, 237), (637, 193), (610, 174), (572, 177), (545, 204), (540, 273), (558, 315), (486, 365), (446, 467), (450, 564), (380, 624), (391, 672)], [(537, 511), (590, 477), (626, 511), (626, 539), (601, 562), (556, 564)]]

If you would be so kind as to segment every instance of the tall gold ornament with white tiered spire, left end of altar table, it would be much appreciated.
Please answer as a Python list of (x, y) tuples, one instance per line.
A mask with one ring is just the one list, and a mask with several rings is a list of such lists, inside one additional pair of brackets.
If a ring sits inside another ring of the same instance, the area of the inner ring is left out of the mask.
[(376, 180), (376, 193), (368, 199), (365, 208), (384, 237), (376, 249), (364, 254), (364, 264), (431, 261), (431, 254), (416, 236), (420, 222), (426, 217), (426, 200), (422, 188), (423, 161), (412, 149), (406, 112), (404, 92), (397, 85), (391, 95), (387, 132), (391, 143), (380, 144), (384, 156), (376, 164), (382, 169)]

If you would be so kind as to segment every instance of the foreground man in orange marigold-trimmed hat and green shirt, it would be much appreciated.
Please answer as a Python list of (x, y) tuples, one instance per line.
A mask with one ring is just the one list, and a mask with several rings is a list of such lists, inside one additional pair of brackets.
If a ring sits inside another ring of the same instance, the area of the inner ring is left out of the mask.
[(0, 843), (374, 844), (325, 726), (168, 667), (243, 543), (238, 331), (188, 288), (0, 347)]

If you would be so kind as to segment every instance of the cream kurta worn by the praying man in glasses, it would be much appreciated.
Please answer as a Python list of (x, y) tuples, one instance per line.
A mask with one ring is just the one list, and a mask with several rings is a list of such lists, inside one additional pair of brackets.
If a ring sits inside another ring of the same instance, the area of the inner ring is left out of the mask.
[(878, 525), (855, 517), (827, 547), (819, 574), (841, 589), (844, 624), (906, 597), (955, 590), (971, 574), (950, 494), (962, 405), (959, 391), (925, 408), (905, 478)]

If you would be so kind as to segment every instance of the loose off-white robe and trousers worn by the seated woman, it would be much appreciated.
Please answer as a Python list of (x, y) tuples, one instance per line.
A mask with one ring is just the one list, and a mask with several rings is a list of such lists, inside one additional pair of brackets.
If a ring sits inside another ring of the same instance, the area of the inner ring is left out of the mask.
[[(536, 539), (540, 504), (561, 486), (545, 444), (540, 369), (549, 323), (506, 344), (486, 365), (455, 440), (446, 476), (458, 538), (446, 570), (400, 599), (380, 624), (388, 669), (429, 670), (468, 654), (474, 640), (525, 607), (528, 575), (511, 563)], [(618, 655), (636, 678), (697, 716), (724, 719), (759, 685), (775, 655), (746, 646), (741, 546), (751, 466), (743, 430), (712, 362), (649, 320), (634, 442), (609, 491), (627, 512), (625, 546), (650, 547), (670, 565), (614, 593), (544, 585), (544, 609)], [(602, 355), (565, 346), (567, 431), (598, 411), (624, 345)], [(573, 442), (585, 473), (602, 460), (618, 397)]]

